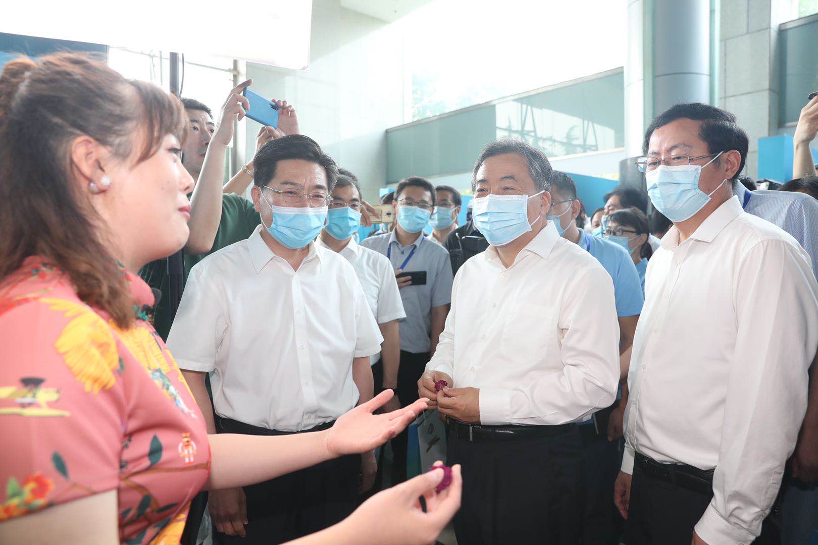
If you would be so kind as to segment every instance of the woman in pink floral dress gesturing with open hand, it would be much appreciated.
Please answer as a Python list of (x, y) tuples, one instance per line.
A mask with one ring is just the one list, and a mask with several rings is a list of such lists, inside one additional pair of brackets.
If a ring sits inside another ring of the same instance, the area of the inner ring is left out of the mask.
[[(388, 391), (326, 431), (207, 435), (133, 273), (187, 239), (184, 123), (176, 98), (82, 56), (3, 69), (0, 543), (179, 543), (200, 489), (374, 449), (426, 407), (373, 414)], [(435, 494), (442, 479), (386, 490), (298, 543), (432, 542), (460, 503), (459, 468)]]

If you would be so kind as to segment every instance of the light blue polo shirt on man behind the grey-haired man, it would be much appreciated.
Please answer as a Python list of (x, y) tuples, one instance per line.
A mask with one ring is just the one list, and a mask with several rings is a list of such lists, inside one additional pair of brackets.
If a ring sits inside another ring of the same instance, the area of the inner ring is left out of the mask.
[(642, 305), (645, 303), (644, 284), (640, 282), (636, 266), (625, 248), (602, 237), (588, 235), (582, 229), (579, 230), (579, 245), (596, 257), (596, 261), (599, 261), (611, 275), (613, 295), (616, 298), (616, 314), (618, 316), (641, 314)]

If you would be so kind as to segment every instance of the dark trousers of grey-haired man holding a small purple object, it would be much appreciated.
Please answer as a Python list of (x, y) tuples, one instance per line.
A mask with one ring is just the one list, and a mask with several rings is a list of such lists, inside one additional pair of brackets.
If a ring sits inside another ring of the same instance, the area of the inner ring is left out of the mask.
[[(582, 440), (554, 437), (469, 441), (448, 434), (447, 463), (462, 466), (457, 543), (579, 543)], [(690, 545), (690, 543), (688, 543)]]

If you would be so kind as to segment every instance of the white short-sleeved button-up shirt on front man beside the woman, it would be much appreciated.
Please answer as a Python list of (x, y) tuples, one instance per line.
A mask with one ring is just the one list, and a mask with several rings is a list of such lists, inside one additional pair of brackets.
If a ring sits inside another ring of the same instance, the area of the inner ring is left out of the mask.
[(353, 358), (382, 341), (344, 257), (311, 243), (293, 270), (261, 226), (193, 267), (168, 336), (181, 369), (214, 372), (216, 413), (279, 431), (352, 409)]

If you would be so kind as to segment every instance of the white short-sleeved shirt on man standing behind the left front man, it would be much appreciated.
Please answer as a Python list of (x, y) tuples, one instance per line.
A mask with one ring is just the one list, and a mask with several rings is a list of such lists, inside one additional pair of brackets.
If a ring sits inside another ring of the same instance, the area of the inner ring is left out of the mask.
[[(333, 252), (321, 237), (316, 239), (316, 244), (321, 248)], [(364, 248), (356, 243), (354, 239), (349, 239), (349, 243), (339, 252), (349, 264), (355, 269), (358, 280), (361, 281), (363, 293), (366, 295), (366, 302), (375, 316), (378, 324), (386, 324), (393, 319), (406, 318), (407, 313), (403, 311), (403, 302), (398, 288), (398, 280), (395, 279), (395, 271), (386, 256), (375, 250)], [(378, 363), (380, 351), (370, 357), (370, 364)]]

